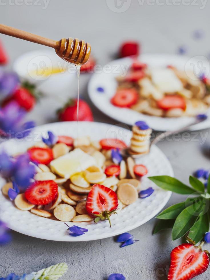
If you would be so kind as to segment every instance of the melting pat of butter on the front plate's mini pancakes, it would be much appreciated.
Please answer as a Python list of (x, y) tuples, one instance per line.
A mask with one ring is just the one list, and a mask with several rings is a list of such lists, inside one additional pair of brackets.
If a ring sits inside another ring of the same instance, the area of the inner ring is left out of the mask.
[(95, 158), (79, 148), (54, 159), (50, 163), (52, 171), (64, 178), (70, 178), (75, 173), (84, 171), (92, 165), (96, 165)]

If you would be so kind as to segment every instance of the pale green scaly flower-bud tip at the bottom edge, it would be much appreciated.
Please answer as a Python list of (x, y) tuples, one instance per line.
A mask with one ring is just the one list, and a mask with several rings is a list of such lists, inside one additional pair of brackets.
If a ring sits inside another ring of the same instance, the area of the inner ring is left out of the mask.
[(63, 276), (68, 270), (66, 263), (58, 263), (50, 267), (44, 268), (38, 272), (32, 272), (34, 276), (32, 280), (57, 280)]

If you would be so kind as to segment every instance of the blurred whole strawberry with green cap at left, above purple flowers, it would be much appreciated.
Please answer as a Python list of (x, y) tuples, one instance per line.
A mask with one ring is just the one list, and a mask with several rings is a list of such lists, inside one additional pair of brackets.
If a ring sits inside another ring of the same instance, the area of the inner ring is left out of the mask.
[(23, 83), (14, 93), (3, 102), (3, 106), (11, 101), (16, 101), (20, 107), (26, 111), (31, 111), (39, 98), (40, 93), (35, 91), (35, 85), (31, 85), (28, 82)]

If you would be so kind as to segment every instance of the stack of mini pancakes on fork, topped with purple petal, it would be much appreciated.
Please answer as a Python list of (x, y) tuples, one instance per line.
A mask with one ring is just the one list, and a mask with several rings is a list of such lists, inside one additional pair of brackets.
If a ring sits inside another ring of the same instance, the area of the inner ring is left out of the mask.
[(152, 129), (144, 121), (137, 121), (132, 127), (130, 154), (141, 155), (149, 153)]

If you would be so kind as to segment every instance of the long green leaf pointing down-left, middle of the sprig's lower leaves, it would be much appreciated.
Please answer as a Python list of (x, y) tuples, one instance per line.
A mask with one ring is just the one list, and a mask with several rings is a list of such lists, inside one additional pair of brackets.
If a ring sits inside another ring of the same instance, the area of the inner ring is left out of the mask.
[(172, 239), (176, 240), (185, 235), (198, 219), (199, 213), (205, 208), (204, 199), (198, 197), (195, 203), (185, 208), (176, 218), (172, 229)]

